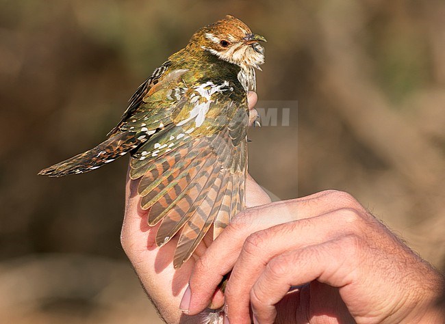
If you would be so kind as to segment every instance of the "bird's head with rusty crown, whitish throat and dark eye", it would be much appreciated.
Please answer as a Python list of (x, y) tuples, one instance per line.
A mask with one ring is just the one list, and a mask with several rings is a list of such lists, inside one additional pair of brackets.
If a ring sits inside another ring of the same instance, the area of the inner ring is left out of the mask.
[(242, 21), (227, 15), (196, 31), (188, 46), (208, 51), (242, 68), (260, 69), (264, 63), (264, 47), (259, 42), (266, 42), (266, 38), (252, 33)]

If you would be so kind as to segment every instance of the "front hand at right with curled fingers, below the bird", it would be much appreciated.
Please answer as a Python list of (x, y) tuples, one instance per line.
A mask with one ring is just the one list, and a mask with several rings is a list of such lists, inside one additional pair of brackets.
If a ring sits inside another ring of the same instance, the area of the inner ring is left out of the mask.
[(251, 323), (250, 309), (255, 323), (445, 321), (440, 273), (340, 191), (236, 217), (196, 262), (189, 314), (232, 268), (225, 323)]

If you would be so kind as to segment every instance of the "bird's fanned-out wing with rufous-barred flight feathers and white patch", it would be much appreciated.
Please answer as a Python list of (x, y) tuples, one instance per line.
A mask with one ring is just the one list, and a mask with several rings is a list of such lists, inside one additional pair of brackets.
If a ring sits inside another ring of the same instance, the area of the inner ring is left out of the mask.
[(140, 178), (149, 224), (160, 223), (157, 245), (180, 231), (179, 267), (212, 224), (216, 237), (244, 208), (246, 93), (237, 82), (196, 82), (178, 69), (164, 72), (138, 100), (118, 130), (147, 132), (131, 154), (130, 177)]

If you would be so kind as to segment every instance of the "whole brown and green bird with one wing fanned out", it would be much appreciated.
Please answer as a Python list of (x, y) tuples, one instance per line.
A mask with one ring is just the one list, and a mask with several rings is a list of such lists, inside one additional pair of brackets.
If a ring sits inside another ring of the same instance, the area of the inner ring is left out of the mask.
[(81, 174), (128, 153), (140, 207), (150, 226), (160, 223), (156, 244), (179, 235), (181, 267), (211, 228), (215, 239), (245, 208), (247, 94), (264, 64), (260, 42), (231, 15), (202, 27), (138, 87), (105, 141), (38, 174)]

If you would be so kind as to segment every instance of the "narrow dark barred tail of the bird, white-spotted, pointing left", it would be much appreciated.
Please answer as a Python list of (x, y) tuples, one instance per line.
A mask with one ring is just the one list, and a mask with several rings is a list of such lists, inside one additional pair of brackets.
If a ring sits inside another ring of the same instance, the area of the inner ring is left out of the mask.
[(140, 144), (139, 142), (134, 133), (120, 133), (103, 141), (95, 148), (51, 165), (38, 174), (41, 176), (66, 176), (95, 170), (136, 148)]

